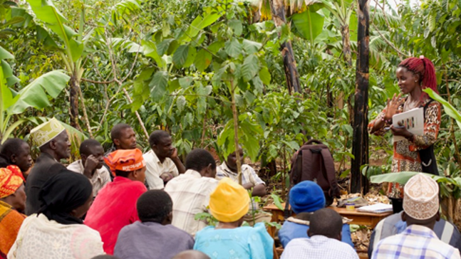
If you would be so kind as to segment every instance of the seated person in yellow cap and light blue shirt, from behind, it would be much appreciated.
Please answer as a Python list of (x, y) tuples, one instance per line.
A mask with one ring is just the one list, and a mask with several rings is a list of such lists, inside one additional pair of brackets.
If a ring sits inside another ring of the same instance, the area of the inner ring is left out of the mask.
[(219, 223), (197, 232), (194, 250), (212, 259), (271, 259), (274, 240), (264, 223), (242, 227), (248, 204), (249, 194), (242, 186), (229, 178), (219, 181), (209, 197), (209, 210)]

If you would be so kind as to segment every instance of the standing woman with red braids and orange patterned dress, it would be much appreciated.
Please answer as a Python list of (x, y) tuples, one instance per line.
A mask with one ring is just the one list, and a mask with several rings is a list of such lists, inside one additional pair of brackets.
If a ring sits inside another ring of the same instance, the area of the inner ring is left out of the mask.
[[(423, 89), (430, 88), (438, 93), (434, 64), (424, 56), (407, 58), (398, 65), (396, 75), (401, 93), (388, 100), (388, 105), (368, 125), (368, 131), (375, 135), (383, 135), (388, 127), (394, 136), (405, 137), (394, 142), (391, 171), (423, 171), (438, 175), (433, 144), (437, 140), (440, 127), (440, 103), (430, 99), (428, 94), (423, 92)], [(402, 95), (406, 97), (401, 97)], [(393, 115), (418, 107), (424, 109), (423, 135), (413, 134), (405, 127), (393, 127)], [(403, 186), (390, 183), (388, 196), (403, 198)]]

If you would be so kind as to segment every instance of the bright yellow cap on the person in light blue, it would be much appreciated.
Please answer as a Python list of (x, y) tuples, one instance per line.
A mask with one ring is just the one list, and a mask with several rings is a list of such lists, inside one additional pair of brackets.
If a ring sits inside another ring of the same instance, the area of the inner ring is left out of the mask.
[(221, 222), (238, 221), (249, 209), (249, 194), (229, 178), (219, 181), (209, 196), (209, 210)]

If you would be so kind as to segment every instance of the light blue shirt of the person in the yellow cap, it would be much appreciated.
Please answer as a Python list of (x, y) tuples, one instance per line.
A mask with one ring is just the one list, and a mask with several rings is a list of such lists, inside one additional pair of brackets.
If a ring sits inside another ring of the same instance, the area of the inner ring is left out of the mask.
[(272, 259), (274, 240), (264, 223), (254, 227), (214, 229), (207, 226), (195, 235), (194, 250), (206, 253), (211, 259)]

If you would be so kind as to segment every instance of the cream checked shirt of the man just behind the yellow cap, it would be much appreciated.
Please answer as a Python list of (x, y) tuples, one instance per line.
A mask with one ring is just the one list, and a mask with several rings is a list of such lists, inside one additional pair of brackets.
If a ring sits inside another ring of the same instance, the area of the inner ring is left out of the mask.
[(217, 185), (216, 179), (202, 177), (191, 169), (168, 181), (165, 191), (173, 201), (172, 225), (192, 236), (206, 227), (207, 222), (196, 221), (195, 214), (207, 211), (209, 194)]

